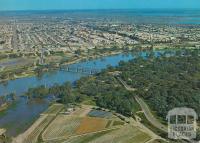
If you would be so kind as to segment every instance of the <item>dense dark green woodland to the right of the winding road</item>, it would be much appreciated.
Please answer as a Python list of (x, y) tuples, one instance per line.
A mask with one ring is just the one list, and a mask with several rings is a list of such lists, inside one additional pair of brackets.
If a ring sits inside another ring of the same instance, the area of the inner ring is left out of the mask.
[(121, 62), (121, 78), (138, 89), (150, 107), (165, 119), (175, 107), (190, 107), (200, 115), (199, 50), (177, 51), (166, 57), (149, 56)]

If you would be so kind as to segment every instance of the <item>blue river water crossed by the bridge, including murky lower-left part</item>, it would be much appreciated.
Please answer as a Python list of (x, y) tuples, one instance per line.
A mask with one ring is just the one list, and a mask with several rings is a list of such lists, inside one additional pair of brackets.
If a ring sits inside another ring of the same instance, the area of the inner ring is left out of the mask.
[[(141, 54), (145, 57), (145, 53)], [(95, 69), (105, 69), (108, 65), (117, 66), (120, 61), (129, 61), (133, 59), (132, 54), (118, 54), (103, 57), (95, 60), (79, 62), (71, 66), (88, 67)], [(45, 73), (41, 78), (36, 76), (25, 77), (16, 80), (10, 80), (6, 85), (0, 84), (0, 95), (15, 92), (18, 96), (22, 95), (30, 87), (39, 85), (52, 86), (55, 83), (62, 84), (66, 81), (75, 82), (86, 74), (71, 73), (66, 71), (55, 71)], [(8, 110), (0, 113), (0, 128), (7, 129), (7, 135), (16, 136), (24, 132), (37, 119), (41, 112), (48, 107), (48, 101), (36, 100), (26, 103), (26, 99), (19, 98), (17, 103)]]

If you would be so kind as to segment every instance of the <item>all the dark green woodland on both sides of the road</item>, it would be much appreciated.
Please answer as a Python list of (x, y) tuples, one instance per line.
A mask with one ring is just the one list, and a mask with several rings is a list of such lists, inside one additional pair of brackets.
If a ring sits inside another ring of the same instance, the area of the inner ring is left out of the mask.
[[(169, 56), (169, 53), (171, 56)], [(168, 55), (168, 56), (166, 56)], [(119, 75), (135, 92), (127, 91), (109, 72)], [(96, 105), (130, 116), (138, 110), (134, 99), (142, 97), (158, 116), (165, 119), (174, 107), (191, 107), (200, 113), (200, 57), (198, 50), (165, 52), (159, 56), (149, 52), (146, 58), (138, 57), (109, 67), (99, 75), (83, 77), (76, 87), (70, 83), (29, 89), (29, 97), (53, 95), (62, 103), (80, 103), (91, 99)], [(86, 98), (87, 97), (87, 98)]]

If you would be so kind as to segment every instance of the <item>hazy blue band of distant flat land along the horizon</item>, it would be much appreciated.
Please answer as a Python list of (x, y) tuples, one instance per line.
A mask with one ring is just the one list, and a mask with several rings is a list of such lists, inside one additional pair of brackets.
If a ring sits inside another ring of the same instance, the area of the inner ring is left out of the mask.
[(37, 21), (52, 17), (56, 22), (93, 19), (144, 24), (200, 24), (200, 10), (197, 9), (2, 11), (0, 13), (1, 21), (6, 19)]

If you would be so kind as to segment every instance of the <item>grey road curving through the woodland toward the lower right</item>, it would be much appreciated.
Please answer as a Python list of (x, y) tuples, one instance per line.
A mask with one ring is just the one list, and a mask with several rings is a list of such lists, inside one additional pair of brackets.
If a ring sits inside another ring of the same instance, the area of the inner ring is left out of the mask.
[[(117, 77), (116, 78), (121, 82), (121, 84), (129, 91), (135, 91), (136, 89), (135, 88), (131, 88), (130, 86), (128, 86), (126, 84), (125, 81), (123, 81), (120, 77)], [(160, 129), (161, 131), (167, 133), (168, 132), (168, 129), (165, 125), (161, 124), (158, 119), (156, 119), (154, 117), (154, 115), (151, 113), (148, 105), (138, 96), (135, 96), (135, 100), (137, 101), (137, 103), (140, 105), (140, 107), (142, 108), (147, 120), (153, 125), (155, 126), (156, 128)]]

